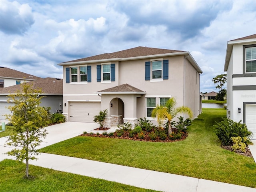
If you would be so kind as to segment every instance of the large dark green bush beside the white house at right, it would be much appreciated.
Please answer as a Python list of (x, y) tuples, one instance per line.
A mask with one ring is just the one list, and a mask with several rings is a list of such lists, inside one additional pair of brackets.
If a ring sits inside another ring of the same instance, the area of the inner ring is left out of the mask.
[[(219, 123), (214, 125), (214, 132), (220, 139), (223, 145), (231, 145), (232, 139), (231, 137), (238, 137), (242, 138), (242, 142), (248, 144), (250, 142), (250, 137), (252, 136), (252, 132), (249, 131), (245, 124), (241, 124), (242, 120), (239, 122), (234, 122), (228, 118), (222, 118), (223, 120)], [(247, 138), (244, 141), (244, 138)]]

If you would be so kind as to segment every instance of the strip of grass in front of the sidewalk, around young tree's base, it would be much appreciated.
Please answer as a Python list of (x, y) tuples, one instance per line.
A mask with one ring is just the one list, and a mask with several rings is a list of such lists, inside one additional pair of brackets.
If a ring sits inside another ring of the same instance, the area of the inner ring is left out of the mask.
[(1, 192), (153, 192), (116, 182), (90, 178), (30, 165), (30, 175), (24, 178), (26, 165), (14, 160), (0, 162)]

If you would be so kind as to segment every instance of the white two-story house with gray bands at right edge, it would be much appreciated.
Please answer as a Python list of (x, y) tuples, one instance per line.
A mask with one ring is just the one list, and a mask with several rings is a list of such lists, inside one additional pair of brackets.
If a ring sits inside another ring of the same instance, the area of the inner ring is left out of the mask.
[(246, 124), (256, 139), (256, 34), (228, 41), (227, 117)]

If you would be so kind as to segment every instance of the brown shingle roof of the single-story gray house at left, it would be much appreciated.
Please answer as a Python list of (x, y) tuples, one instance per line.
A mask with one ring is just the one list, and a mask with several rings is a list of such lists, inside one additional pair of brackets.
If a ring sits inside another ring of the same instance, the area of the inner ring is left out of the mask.
[[(62, 95), (63, 94), (63, 79), (58, 78), (40, 78), (36, 81), (26, 82), (32, 85), (33, 89), (41, 89), (41, 95)], [(17, 90), (21, 90), (21, 84), (5, 87), (0, 89), (0, 95), (13, 94)]]

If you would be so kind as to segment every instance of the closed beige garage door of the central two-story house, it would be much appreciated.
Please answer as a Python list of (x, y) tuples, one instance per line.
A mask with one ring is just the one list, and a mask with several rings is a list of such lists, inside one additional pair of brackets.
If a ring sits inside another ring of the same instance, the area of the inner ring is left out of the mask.
[(69, 102), (69, 121), (91, 123), (100, 109), (100, 102)]

